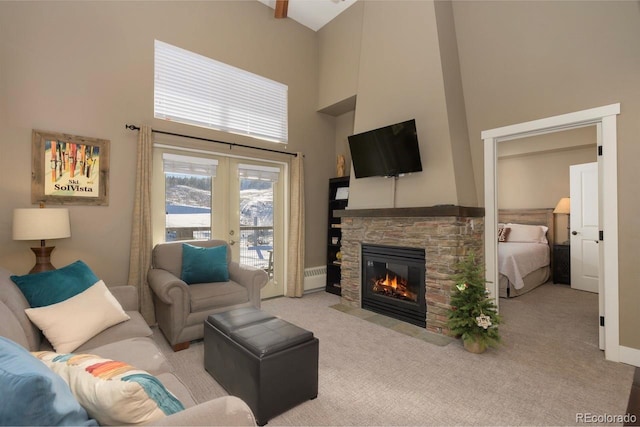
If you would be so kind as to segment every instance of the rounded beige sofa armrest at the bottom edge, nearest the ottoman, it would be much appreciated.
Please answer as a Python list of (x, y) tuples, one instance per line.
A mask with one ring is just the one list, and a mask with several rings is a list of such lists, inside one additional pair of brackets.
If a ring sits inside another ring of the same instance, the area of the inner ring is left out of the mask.
[(243, 400), (235, 396), (224, 396), (154, 421), (153, 425), (255, 426), (256, 419)]

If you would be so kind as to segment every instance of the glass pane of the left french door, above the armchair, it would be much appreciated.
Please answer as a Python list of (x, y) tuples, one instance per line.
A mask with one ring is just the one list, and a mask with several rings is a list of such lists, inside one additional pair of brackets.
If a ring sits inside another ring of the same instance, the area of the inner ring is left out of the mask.
[(211, 230), (211, 177), (165, 173), (165, 240), (206, 240)]

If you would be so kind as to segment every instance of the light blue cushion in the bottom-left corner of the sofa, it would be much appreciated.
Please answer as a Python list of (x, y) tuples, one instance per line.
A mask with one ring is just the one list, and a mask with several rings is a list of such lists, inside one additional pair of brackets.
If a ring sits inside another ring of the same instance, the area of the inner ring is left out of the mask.
[(0, 337), (0, 425), (98, 425), (59, 375)]

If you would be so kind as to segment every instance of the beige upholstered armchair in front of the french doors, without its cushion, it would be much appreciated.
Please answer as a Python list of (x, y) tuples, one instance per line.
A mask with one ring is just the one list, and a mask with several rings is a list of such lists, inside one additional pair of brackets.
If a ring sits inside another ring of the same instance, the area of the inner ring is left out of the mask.
[[(187, 285), (180, 279), (182, 244), (227, 247), (228, 282)], [(189, 240), (159, 243), (153, 248), (147, 281), (153, 291), (156, 320), (174, 351), (184, 350), (204, 337), (204, 321), (210, 314), (240, 307), (260, 308), (260, 289), (267, 273), (231, 261), (231, 249), (224, 240)]]

